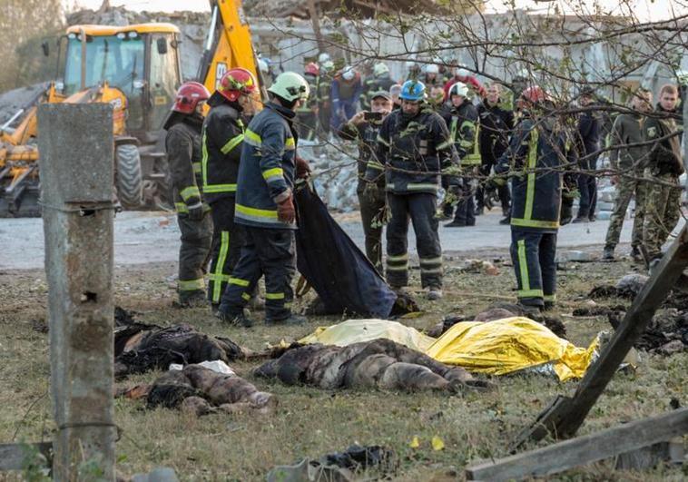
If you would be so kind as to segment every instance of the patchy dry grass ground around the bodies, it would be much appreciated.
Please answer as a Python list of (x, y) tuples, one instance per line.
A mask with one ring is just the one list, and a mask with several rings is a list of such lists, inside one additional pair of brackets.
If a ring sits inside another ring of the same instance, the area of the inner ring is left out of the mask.
[[(458, 270), (465, 258), (504, 259), (504, 252), (465, 253), (447, 257), (446, 297), (430, 303), (418, 297), (424, 314), (404, 320), (428, 329), (447, 314), (476, 314), (495, 300), (511, 300), (512, 268), (497, 263), (500, 273), (466, 274)], [(585, 303), (594, 285), (614, 282), (633, 271), (629, 261), (569, 263), (559, 271), (559, 303), (554, 315), (561, 317), (569, 339), (587, 346), (606, 320), (574, 318), (572, 310)], [(137, 312), (139, 320), (169, 325), (187, 322), (211, 334), (221, 334), (250, 349), (268, 343), (299, 339), (318, 326), (339, 321), (318, 318), (297, 328), (251, 330), (224, 326), (209, 310), (172, 308), (175, 263), (123, 266), (115, 276), (116, 304)], [(418, 286), (418, 267), (413, 271)], [(54, 423), (48, 394), (50, 367), (46, 327), (46, 284), (43, 271), (0, 273), (0, 442), (35, 442), (53, 437)], [(307, 300), (298, 303), (303, 306)], [(623, 300), (606, 300), (609, 305)], [(258, 313), (260, 317), (261, 313)], [(581, 434), (670, 409), (671, 398), (685, 405), (688, 386), (688, 353), (669, 358), (643, 355), (635, 371), (620, 372), (604, 392)], [(494, 378), (496, 390), (463, 396), (437, 393), (383, 391), (325, 391), (286, 387), (280, 382), (254, 379), (251, 366), (233, 366), (259, 389), (280, 400), (270, 415), (211, 415), (189, 418), (169, 409), (149, 411), (143, 401), (118, 398), (115, 419), (121, 430), (117, 442), (117, 467), (123, 475), (168, 466), (181, 480), (264, 480), (270, 467), (291, 464), (301, 457), (319, 457), (353, 443), (383, 445), (396, 452), (394, 480), (455, 480), (471, 461), (502, 457), (521, 428), (556, 394), (575, 389), (575, 382), (560, 384), (543, 375)], [(149, 373), (118, 385), (133, 386), (154, 379)], [(445, 448), (436, 451), (430, 440), (442, 438)], [(420, 446), (409, 444), (418, 437)], [(684, 480), (686, 469), (660, 466), (644, 473), (614, 471), (613, 461), (576, 468), (556, 479), (563, 480)], [(369, 477), (379, 477), (372, 472)], [(20, 479), (21, 475), (5, 476)], [(0, 476), (0, 480), (3, 476)]]

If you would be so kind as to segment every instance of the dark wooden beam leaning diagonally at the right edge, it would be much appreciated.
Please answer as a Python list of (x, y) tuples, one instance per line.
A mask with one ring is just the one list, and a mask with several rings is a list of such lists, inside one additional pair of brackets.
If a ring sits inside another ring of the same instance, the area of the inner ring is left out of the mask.
[(663, 256), (643, 290), (635, 297), (631, 308), (600, 357), (587, 369), (585, 377), (575, 389), (573, 397), (559, 396), (525, 428), (515, 442), (512, 451), (528, 440), (540, 440), (550, 435), (554, 438), (570, 438), (583, 425), (585, 417), (614, 377), (628, 351), (640, 339), (654, 312), (662, 305), (667, 294), (688, 266), (688, 226), (683, 230)]

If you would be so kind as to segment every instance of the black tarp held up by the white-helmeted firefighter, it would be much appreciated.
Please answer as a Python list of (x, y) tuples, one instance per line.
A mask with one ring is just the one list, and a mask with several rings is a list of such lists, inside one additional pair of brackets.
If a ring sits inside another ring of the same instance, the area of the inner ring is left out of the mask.
[(297, 265), (328, 314), (387, 319), (397, 294), (329, 215), (309, 184), (296, 190)]

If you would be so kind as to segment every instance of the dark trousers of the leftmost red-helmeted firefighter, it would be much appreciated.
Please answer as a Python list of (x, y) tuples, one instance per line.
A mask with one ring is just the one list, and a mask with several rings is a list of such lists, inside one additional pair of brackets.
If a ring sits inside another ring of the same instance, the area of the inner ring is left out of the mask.
[(177, 214), (179, 231), (182, 231), (182, 245), (179, 247), (179, 281), (177, 283), (180, 301), (205, 290), (203, 276), (211, 250), (212, 220), (206, 212), (201, 221), (192, 221), (185, 213)]

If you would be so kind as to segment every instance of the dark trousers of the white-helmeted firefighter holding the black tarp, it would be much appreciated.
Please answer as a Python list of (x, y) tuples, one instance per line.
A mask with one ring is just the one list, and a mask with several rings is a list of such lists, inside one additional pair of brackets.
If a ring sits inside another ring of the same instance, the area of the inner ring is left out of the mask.
[(265, 318), (285, 320), (291, 315), (294, 292), (291, 279), (296, 272), (296, 243), (293, 230), (243, 226), (246, 241), (241, 258), (222, 294), (220, 310), (241, 315), (251, 293), (265, 276)]

